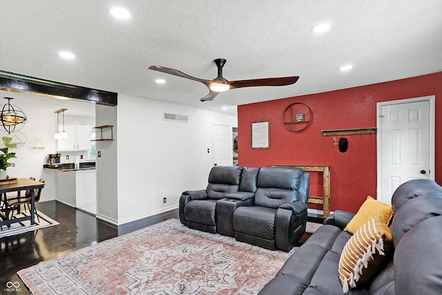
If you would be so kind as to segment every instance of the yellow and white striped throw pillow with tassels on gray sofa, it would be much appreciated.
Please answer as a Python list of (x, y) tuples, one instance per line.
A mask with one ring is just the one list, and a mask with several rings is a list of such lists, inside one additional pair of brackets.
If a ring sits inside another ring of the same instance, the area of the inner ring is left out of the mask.
[(340, 254), (338, 272), (345, 294), (378, 273), (392, 244), (390, 228), (377, 216), (356, 231)]

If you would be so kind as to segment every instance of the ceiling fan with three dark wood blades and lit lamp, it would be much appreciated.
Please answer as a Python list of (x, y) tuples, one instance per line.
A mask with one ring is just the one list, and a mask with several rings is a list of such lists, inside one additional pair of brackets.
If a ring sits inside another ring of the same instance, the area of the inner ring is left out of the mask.
[(205, 102), (207, 100), (213, 100), (215, 96), (218, 95), (218, 93), (228, 91), (229, 89), (233, 88), (254, 87), (254, 86), (285, 86), (285, 85), (294, 84), (299, 79), (298, 76), (295, 76), (295, 77), (229, 81), (224, 77), (222, 77), (222, 67), (224, 66), (224, 64), (226, 64), (226, 59), (215, 59), (214, 62), (218, 67), (218, 77), (216, 77), (213, 80), (206, 80), (206, 79), (192, 77), (190, 75), (182, 73), (180, 70), (175, 70), (173, 68), (166, 68), (165, 66), (149, 66), (149, 69), (201, 82), (202, 84), (207, 86), (207, 88), (209, 88), (209, 94), (202, 97), (202, 99), (200, 99), (202, 102)]

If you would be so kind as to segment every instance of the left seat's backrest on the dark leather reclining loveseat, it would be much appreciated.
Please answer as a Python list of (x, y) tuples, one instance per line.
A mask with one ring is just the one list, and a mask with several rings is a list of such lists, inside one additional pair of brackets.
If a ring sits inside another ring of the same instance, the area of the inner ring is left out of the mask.
[(213, 166), (206, 187), (207, 198), (220, 200), (227, 193), (238, 191), (242, 169), (242, 166)]

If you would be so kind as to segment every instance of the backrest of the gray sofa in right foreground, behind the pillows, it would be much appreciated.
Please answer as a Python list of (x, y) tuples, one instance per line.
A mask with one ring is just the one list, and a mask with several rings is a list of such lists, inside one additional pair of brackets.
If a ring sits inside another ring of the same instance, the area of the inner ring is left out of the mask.
[(409, 180), (392, 197), (394, 257), (369, 294), (441, 294), (442, 187)]

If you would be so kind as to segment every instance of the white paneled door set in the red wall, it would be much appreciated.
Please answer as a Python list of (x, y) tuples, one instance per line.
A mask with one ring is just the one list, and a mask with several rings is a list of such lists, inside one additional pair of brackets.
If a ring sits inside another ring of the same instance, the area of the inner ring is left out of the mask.
[(434, 122), (430, 99), (378, 104), (378, 115), (378, 200), (390, 204), (403, 182), (434, 179)]

